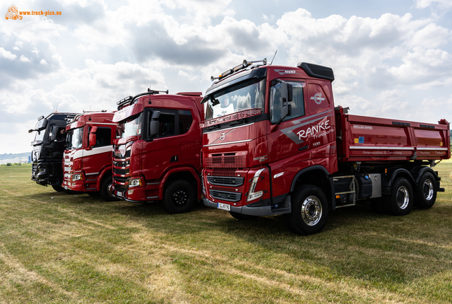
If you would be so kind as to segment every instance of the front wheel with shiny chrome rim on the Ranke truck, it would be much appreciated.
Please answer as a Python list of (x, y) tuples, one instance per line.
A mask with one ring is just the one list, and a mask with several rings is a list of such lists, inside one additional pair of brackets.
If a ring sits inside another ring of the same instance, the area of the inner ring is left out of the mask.
[(292, 201), (292, 213), (285, 216), (294, 233), (309, 235), (321, 232), (328, 218), (325, 193), (314, 185), (300, 187)]

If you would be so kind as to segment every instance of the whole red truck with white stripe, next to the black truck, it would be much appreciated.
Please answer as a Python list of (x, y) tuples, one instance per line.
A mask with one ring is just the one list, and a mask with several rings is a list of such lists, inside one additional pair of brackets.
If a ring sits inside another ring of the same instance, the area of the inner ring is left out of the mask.
[(114, 199), (109, 193), (112, 184), (112, 152), (117, 124), (114, 113), (83, 112), (66, 126), (67, 147), (64, 151), (63, 187), (102, 199)]

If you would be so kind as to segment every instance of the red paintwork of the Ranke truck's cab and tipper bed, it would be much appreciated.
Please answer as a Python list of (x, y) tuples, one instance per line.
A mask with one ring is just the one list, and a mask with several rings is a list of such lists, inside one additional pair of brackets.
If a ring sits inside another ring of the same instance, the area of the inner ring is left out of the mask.
[[(339, 163), (345, 162), (387, 163), (410, 160), (414, 158), (415, 152), (417, 160), (451, 157), (450, 149), (446, 148), (450, 146), (450, 140), (448, 122), (445, 119), (439, 124), (427, 124), (434, 126), (431, 129), (422, 127), (419, 122), (345, 115), (342, 107), (335, 110), (331, 81), (311, 78), (298, 67), (261, 66), (258, 69), (267, 69), (264, 112), (269, 113), (270, 82), (277, 78), (283, 81), (296, 79), (304, 82), (304, 115), (279, 125), (263, 120), (248, 126), (205, 131), (203, 183), (207, 190), (206, 199), (211, 202), (244, 206), (268, 199), (270, 188), (273, 198), (281, 197), (291, 192), (297, 173), (314, 165), (320, 165), (331, 175), (338, 173)], [(278, 70), (291, 72), (281, 75)], [(227, 83), (227, 78), (224, 82)], [(314, 95), (319, 93), (325, 99), (316, 103)], [(202, 122), (201, 127), (222, 123), (225, 118), (225, 121), (229, 121), (228, 117), (219, 117)], [(393, 122), (409, 123), (410, 127)], [(222, 133), (225, 134), (224, 139), (219, 141)], [(292, 134), (303, 142), (297, 143), (287, 134)], [(342, 139), (336, 141), (336, 136)], [(364, 137), (364, 144), (359, 143), (359, 137)], [(228, 142), (232, 144), (227, 144)], [(220, 144), (217, 145), (218, 143)], [(307, 148), (300, 151), (299, 148), (304, 146)], [(369, 148), (363, 148), (364, 146)], [(272, 176), (269, 176), (267, 166), (271, 169)], [(261, 173), (261, 180), (256, 184), (255, 192), (261, 189), (266, 189), (267, 192), (259, 199), (246, 201), (254, 173), (261, 168), (265, 169)], [(210, 175), (245, 177), (244, 185), (214, 186), (208, 182), (207, 177)], [(242, 193), (242, 199), (235, 203), (214, 199), (209, 194), (210, 189)]]

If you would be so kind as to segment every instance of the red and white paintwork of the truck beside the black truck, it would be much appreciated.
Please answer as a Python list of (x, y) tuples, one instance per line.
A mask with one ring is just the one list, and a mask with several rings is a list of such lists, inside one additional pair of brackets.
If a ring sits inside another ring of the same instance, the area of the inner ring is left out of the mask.
[[(117, 124), (112, 122), (114, 113), (87, 113), (76, 117), (76, 122), (68, 124), (66, 131), (83, 127), (83, 145), (81, 148), (64, 151), (65, 189), (78, 192), (95, 192), (100, 190), (102, 178), (112, 172), (112, 144), (109, 146), (89, 148), (88, 127), (112, 128), (112, 141)], [(73, 174), (82, 174), (82, 180), (73, 181)]]

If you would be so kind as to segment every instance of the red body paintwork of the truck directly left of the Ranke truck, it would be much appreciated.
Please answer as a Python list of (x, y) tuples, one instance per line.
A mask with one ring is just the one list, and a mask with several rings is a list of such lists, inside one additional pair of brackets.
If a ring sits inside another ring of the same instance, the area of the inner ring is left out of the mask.
[[(199, 123), (204, 117), (201, 105), (201, 92), (184, 92), (176, 95), (144, 95), (133, 105), (127, 105), (118, 111), (114, 122), (119, 122), (136, 115), (147, 108), (187, 110), (191, 112), (193, 122), (185, 134), (155, 138), (145, 141), (141, 136), (129, 136), (116, 139), (115, 147), (131, 145), (131, 153), (127, 158), (114, 158), (114, 162), (129, 161), (129, 165), (121, 167), (113, 165), (114, 177), (124, 178), (119, 182), (114, 178), (112, 192), (117, 197), (129, 201), (154, 201), (163, 199), (165, 182), (174, 173), (189, 173), (198, 185), (198, 199), (201, 199), (201, 129)], [(177, 156), (176, 162), (170, 162), (172, 156)], [(129, 169), (129, 173), (119, 175), (115, 169)], [(128, 188), (131, 178), (141, 178), (142, 186)], [(117, 189), (125, 187), (126, 191)]]

